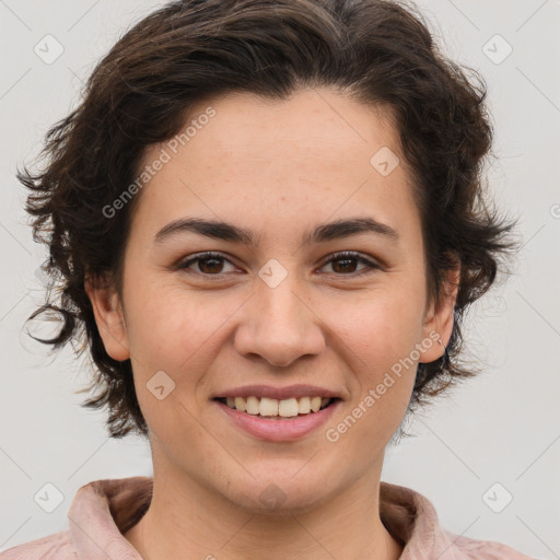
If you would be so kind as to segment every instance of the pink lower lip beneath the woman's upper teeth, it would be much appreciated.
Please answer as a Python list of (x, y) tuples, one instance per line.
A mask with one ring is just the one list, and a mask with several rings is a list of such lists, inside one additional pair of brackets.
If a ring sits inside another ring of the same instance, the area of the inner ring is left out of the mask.
[(335, 400), (331, 405), (318, 412), (310, 412), (282, 420), (269, 420), (258, 416), (241, 412), (228, 405), (214, 401), (221, 410), (231, 419), (231, 421), (246, 432), (271, 442), (294, 441), (307, 435), (320, 425), (323, 425), (340, 405), (340, 400)]

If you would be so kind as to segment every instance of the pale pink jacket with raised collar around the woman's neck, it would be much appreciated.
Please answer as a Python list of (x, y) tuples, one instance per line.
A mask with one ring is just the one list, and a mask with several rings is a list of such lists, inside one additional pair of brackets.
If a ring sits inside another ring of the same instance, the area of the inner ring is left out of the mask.
[[(142, 560), (122, 536), (147, 512), (152, 478), (105, 479), (80, 488), (68, 512), (69, 529), (12, 547), (1, 560)], [(405, 548), (400, 560), (530, 560), (490, 540), (442, 528), (432, 503), (405, 487), (381, 482), (381, 517)]]

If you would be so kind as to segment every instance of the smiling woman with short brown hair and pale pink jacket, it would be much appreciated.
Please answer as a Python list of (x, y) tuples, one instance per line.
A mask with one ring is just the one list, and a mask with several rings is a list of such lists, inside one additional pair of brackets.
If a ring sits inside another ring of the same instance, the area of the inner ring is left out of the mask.
[(32, 317), (85, 335), (85, 405), (153, 480), (82, 487), (2, 558), (528, 558), (381, 481), (407, 413), (474, 375), (460, 320), (513, 246), (483, 101), (395, 2), (179, 1), (128, 32), (19, 177), (61, 289)]

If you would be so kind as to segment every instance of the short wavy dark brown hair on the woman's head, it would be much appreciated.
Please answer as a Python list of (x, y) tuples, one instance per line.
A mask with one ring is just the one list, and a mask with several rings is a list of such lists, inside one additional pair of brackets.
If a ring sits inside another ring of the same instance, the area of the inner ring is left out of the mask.
[(419, 364), (409, 409), (478, 373), (459, 362), (462, 318), (514, 246), (506, 237), (514, 223), (490, 211), (482, 196), (492, 136), (483, 80), (446, 59), (422, 15), (404, 2), (174, 1), (101, 60), (78, 108), (49, 130), (46, 167), (18, 173), (32, 190), (26, 210), (34, 240), (49, 248), (46, 302), (30, 319), (55, 312), (59, 334), (39, 340), (55, 349), (77, 340), (80, 352), (89, 348), (96, 371), (88, 390), (100, 393), (83, 406), (108, 407), (110, 436), (149, 431), (130, 360), (107, 354), (84, 290), (86, 275), (110, 273), (121, 293), (135, 200), (117, 217), (103, 209), (133, 183), (147, 148), (179, 131), (192, 103), (230, 92), (284, 100), (304, 86), (331, 86), (390, 107), (421, 214), (430, 299), (443, 298), (444, 275), (460, 262), (446, 354)]

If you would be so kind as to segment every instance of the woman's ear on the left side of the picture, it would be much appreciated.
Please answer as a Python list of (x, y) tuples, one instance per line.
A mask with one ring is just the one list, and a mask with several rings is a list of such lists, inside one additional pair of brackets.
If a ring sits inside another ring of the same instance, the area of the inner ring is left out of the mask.
[(86, 278), (84, 288), (106, 352), (119, 362), (128, 360), (130, 351), (125, 315), (113, 283), (107, 278)]

